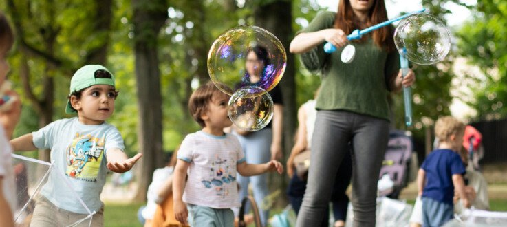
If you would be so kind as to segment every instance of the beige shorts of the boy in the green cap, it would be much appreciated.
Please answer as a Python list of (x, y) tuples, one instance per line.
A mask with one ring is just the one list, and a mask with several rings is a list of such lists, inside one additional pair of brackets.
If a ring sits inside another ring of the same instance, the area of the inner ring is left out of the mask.
[[(30, 226), (36, 227), (54, 227), (54, 226), (69, 226), (76, 222), (86, 219), (88, 215), (78, 214), (63, 210), (52, 204), (43, 196), (39, 196), (35, 203), (34, 213), (32, 215), (32, 221)], [(82, 221), (76, 226), (104, 226), (104, 206), (97, 211), (95, 215), (90, 219)]]

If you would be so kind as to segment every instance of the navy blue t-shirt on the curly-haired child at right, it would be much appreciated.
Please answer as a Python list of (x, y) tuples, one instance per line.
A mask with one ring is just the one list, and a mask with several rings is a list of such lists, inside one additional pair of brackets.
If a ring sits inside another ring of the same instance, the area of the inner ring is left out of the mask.
[(426, 172), (426, 185), (422, 197), (453, 204), (453, 175), (466, 172), (460, 155), (450, 149), (437, 149), (422, 162), (421, 169)]

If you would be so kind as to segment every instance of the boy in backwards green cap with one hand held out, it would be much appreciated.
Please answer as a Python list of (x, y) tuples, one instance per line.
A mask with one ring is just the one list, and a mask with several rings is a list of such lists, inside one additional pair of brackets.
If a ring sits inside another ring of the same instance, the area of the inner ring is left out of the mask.
[[(141, 157), (128, 158), (120, 132), (105, 122), (113, 114), (116, 96), (113, 74), (101, 65), (85, 65), (72, 76), (65, 109), (78, 116), (56, 120), (11, 140), (14, 151), (51, 149), (54, 166), (36, 201), (31, 226), (60, 226), (86, 219), (89, 211), (81, 202), (95, 212), (91, 226), (103, 226), (100, 192), (108, 169), (125, 173)], [(63, 176), (66, 181), (61, 180)]]

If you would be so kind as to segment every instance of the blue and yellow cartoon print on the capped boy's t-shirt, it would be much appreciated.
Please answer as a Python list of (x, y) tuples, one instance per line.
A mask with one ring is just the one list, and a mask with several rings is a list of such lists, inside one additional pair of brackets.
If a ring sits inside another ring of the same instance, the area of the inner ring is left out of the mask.
[(103, 159), (104, 143), (104, 138), (76, 133), (65, 151), (67, 156), (65, 174), (79, 180), (95, 182)]

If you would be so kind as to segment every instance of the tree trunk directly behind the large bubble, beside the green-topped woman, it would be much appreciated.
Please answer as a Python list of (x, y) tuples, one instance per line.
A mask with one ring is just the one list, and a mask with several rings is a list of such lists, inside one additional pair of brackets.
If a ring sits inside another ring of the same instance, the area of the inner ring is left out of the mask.
[[(292, 149), (294, 145), (293, 138), (296, 133), (297, 125), (297, 107), (296, 99), (294, 98), (296, 97), (294, 56), (290, 54), (288, 49), (293, 37), (292, 3), (290, 1), (279, 0), (263, 6), (258, 6), (255, 8), (254, 17), (255, 25), (277, 36), (283, 44), (283, 47), (285, 47), (285, 52), (287, 54), (287, 67), (278, 85), (281, 87), (283, 95), (283, 154), (285, 160), (290, 153), (290, 149)], [(285, 178), (287, 175), (272, 176), (273, 177), (270, 177), (271, 187), (278, 189), (283, 188), (283, 193), (287, 186), (287, 181), (285, 179), (279, 179), (278, 177)]]

